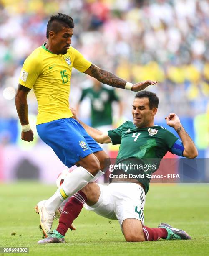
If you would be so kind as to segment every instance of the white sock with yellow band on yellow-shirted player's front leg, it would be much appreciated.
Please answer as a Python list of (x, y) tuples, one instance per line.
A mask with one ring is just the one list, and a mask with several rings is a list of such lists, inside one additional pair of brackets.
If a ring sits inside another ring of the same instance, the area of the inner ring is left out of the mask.
[(46, 209), (55, 212), (61, 202), (85, 187), (93, 178), (94, 176), (85, 168), (81, 166), (76, 168), (73, 172), (69, 173), (67, 179), (65, 179), (54, 195), (46, 200)]

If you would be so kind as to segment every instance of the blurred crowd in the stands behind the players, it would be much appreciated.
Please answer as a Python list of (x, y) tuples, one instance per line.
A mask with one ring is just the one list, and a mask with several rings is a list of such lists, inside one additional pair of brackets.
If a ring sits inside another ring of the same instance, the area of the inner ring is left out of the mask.
[[(14, 131), (8, 135), (11, 124), (18, 123), (14, 97), (20, 69), (31, 51), (46, 41), (48, 19), (58, 12), (74, 19), (72, 46), (93, 64), (133, 83), (158, 80), (156, 87), (149, 87), (160, 99), (156, 119), (177, 113), (188, 121), (197, 146), (208, 147), (209, 0), (1, 0), (0, 143), (20, 136), (14, 137)], [(74, 70), (72, 107), (81, 89), (91, 84)], [(133, 93), (117, 92), (124, 118), (131, 119)], [(28, 105), (36, 115), (33, 92)], [(81, 110), (84, 119), (90, 117), (88, 112)]]

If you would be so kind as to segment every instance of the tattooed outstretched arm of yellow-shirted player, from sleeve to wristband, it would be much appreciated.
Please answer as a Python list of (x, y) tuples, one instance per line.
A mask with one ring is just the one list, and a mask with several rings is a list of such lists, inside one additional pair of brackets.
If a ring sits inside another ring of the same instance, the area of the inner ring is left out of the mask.
[(125, 88), (126, 81), (124, 79), (121, 79), (120, 77), (117, 77), (115, 74), (107, 70), (100, 69), (94, 64), (91, 64), (90, 70), (93, 77), (96, 78), (98, 81), (102, 82), (103, 84), (108, 84), (116, 88)]

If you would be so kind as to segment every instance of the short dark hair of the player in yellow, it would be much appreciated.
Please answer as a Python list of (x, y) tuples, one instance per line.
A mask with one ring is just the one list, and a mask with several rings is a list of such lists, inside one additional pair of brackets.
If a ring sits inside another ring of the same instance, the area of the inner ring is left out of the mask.
[(49, 38), (49, 31), (54, 31), (55, 33), (58, 33), (62, 29), (62, 27), (74, 28), (73, 18), (63, 13), (51, 15), (46, 27), (46, 38)]

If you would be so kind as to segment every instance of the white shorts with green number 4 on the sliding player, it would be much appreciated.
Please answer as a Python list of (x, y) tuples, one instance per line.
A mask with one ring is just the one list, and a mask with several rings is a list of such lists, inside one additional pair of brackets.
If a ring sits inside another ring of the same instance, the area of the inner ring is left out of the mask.
[(125, 219), (141, 220), (144, 225), (144, 189), (136, 183), (111, 183), (108, 186), (98, 184), (100, 197), (94, 205), (85, 204), (87, 210), (111, 220), (118, 220), (122, 225)]

